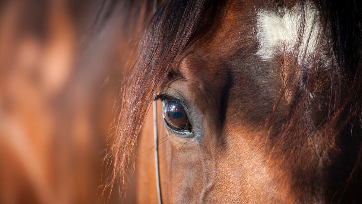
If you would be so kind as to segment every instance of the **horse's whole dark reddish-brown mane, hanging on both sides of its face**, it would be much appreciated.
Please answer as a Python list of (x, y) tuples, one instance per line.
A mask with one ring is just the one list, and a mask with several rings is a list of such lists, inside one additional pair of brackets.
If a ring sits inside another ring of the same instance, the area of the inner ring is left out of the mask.
[[(122, 105), (116, 121), (117, 136), (109, 152), (113, 161), (110, 186), (117, 180), (125, 178), (125, 171), (136, 145), (136, 137), (153, 98), (175, 66), (178, 57), (196, 37), (198, 26), (212, 3), (211, 0), (167, 0), (158, 8), (147, 25), (139, 44), (136, 61), (127, 75), (122, 90)], [(277, 4), (286, 3), (278, 1)], [(353, 137), (358, 137), (358, 155), (357, 158), (352, 158), (355, 159), (352, 172), (355, 172), (357, 168), (361, 168), (362, 155), (361, 4), (356, 1), (340, 4), (338, 1), (327, 0), (316, 0), (314, 4), (323, 28), (322, 39), (326, 42), (325, 49), (331, 57), (330, 68), (323, 78), (327, 81), (318, 81), (320, 70), (317, 69), (317, 62), (305, 67), (304, 70), (300, 67), (299, 74), (305, 74), (305, 78), (290, 77), (287, 79), (288, 87), (284, 89), (284, 92), (289, 89), (294, 93), (288, 107), (287, 119), (282, 121), (283, 126), (277, 126), (281, 121), (274, 115), (268, 118), (266, 125), (270, 135), (279, 134), (278, 138), (274, 138), (277, 142), (290, 141), (291, 139), (287, 139), (290, 137), (290, 132), (298, 132), (296, 131), (298, 121), (304, 114), (302, 109), (306, 105), (314, 107), (305, 90), (321, 88), (320, 86), (328, 87), (326, 104), (322, 104), (327, 107), (328, 113), (327, 117), (316, 121), (317, 126), (319, 125), (318, 136), (324, 136), (321, 140), (325, 146), (329, 144), (334, 146), (339, 142), (336, 136), (348, 130)], [(302, 80), (306, 82), (302, 83)], [(303, 84), (302, 88), (300, 84)], [(275, 109), (277, 108), (276, 105)], [(351, 174), (350, 178), (352, 177)]]

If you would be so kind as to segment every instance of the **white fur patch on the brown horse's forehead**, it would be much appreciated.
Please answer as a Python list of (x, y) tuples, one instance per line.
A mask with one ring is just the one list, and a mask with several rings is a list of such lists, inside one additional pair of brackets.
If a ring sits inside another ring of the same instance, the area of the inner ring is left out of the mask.
[[(257, 12), (257, 37), (260, 50), (257, 52), (264, 60), (270, 60), (278, 52), (295, 53), (296, 44), (300, 43), (298, 61), (311, 57), (321, 46), (322, 37), (320, 17), (311, 2), (304, 7), (301, 3), (292, 8), (279, 8), (275, 11), (263, 9)], [(303, 26), (301, 26), (303, 25)], [(300, 33), (302, 35), (300, 36)]]

